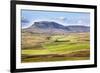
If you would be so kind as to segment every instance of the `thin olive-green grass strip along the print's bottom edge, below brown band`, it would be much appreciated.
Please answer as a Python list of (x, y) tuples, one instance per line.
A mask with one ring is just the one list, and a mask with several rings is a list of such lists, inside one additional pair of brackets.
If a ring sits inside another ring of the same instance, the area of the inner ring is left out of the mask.
[(23, 63), (28, 62), (50, 62), (50, 61), (75, 61), (75, 60), (88, 60), (89, 57), (37, 57), (37, 58), (26, 58), (23, 59)]

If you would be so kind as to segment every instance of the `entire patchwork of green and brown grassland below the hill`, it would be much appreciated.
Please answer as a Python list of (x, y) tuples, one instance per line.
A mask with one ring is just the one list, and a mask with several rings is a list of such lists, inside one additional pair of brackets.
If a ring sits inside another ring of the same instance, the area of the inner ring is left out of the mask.
[(62, 35), (22, 32), (21, 61), (48, 62), (88, 60), (90, 58), (89, 33)]

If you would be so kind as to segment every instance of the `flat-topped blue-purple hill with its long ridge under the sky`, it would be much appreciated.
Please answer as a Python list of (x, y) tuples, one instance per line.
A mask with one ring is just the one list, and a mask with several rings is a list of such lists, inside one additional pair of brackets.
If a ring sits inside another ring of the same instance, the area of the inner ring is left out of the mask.
[(29, 28), (22, 29), (31, 33), (47, 33), (47, 34), (62, 34), (69, 32), (89, 32), (90, 27), (88, 26), (64, 26), (62, 24), (51, 22), (51, 21), (39, 21), (34, 22)]

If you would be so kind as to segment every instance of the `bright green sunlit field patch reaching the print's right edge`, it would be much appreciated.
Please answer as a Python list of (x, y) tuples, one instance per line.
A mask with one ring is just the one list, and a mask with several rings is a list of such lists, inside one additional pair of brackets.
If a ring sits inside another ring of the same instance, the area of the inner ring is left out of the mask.
[(90, 48), (88, 43), (82, 43), (82, 44), (59, 44), (59, 45), (52, 45), (51, 44), (47, 44), (44, 46), (45, 48), (48, 48), (49, 50), (60, 50), (60, 51), (70, 51), (70, 50), (81, 50), (81, 49), (87, 49)]

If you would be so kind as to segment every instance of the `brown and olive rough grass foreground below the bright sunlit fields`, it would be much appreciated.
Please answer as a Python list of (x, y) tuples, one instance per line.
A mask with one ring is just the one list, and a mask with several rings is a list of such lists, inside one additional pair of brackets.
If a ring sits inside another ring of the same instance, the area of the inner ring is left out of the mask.
[(77, 51), (68, 54), (43, 54), (43, 55), (22, 55), (22, 62), (47, 62), (47, 61), (64, 61), (64, 60), (88, 60), (89, 50)]

